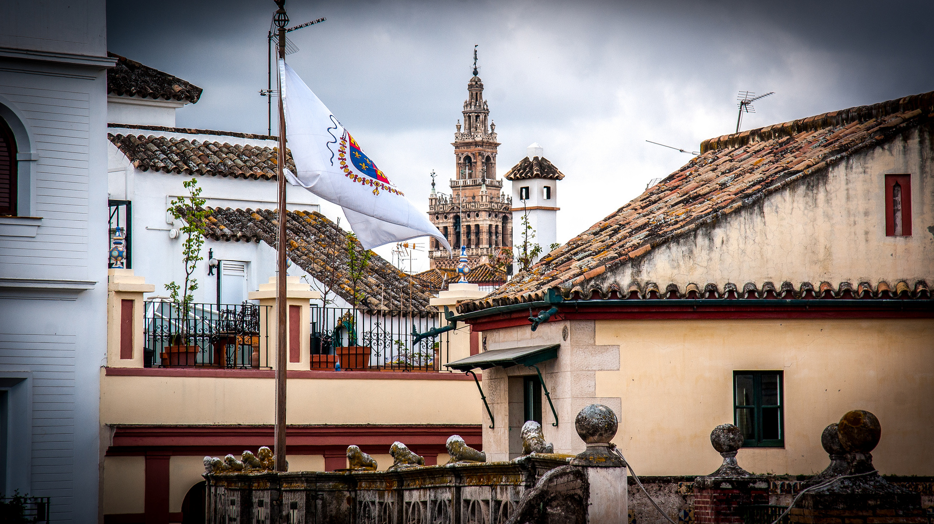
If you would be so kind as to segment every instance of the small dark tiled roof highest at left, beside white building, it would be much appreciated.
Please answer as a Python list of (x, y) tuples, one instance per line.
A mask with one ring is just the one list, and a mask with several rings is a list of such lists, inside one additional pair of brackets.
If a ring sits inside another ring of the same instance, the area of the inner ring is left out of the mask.
[(197, 103), (203, 91), (191, 82), (107, 52), (117, 64), (107, 69), (107, 93)]

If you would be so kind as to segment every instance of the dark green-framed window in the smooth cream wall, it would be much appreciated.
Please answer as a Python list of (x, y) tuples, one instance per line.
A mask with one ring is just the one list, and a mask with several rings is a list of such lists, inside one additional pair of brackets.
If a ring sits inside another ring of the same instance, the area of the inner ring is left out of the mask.
[(743, 448), (785, 446), (781, 371), (733, 371), (733, 417)]

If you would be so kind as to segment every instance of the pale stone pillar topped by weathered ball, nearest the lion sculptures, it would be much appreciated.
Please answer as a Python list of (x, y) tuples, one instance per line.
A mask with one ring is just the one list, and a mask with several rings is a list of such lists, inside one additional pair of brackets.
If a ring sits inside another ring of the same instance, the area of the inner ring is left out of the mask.
[(574, 457), (571, 465), (582, 466), (587, 472), (588, 523), (629, 522), (626, 462), (610, 443), (618, 427), (616, 413), (601, 404), (581, 409), (574, 419), (577, 434), (587, 444), (587, 449)]

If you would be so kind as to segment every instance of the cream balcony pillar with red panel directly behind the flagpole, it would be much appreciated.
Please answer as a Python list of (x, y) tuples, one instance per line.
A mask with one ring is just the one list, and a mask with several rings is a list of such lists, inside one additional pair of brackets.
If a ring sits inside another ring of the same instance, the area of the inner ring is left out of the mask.
[[(286, 333), (289, 337), (286, 341), (286, 354), (289, 357), (286, 369), (311, 369), (311, 300), (320, 297), (299, 277), (286, 277)], [(250, 291), (249, 299), (259, 300), (261, 306), (270, 306), (260, 312), (260, 333), (269, 334), (266, 358), (269, 365), (276, 369), (276, 277), (269, 277), (269, 283), (261, 283), (258, 291)]]

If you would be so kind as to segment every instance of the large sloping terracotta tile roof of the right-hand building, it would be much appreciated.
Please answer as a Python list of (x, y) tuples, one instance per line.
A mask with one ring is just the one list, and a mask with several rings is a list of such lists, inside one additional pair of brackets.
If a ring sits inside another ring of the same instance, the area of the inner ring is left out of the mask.
[[(705, 140), (699, 157), (542, 257), (529, 271), (460, 308), (537, 300), (549, 288), (559, 288), (565, 296), (586, 290), (589, 296), (588, 281), (604, 271), (932, 117), (934, 91)], [(600, 294), (611, 291), (601, 289)]]

